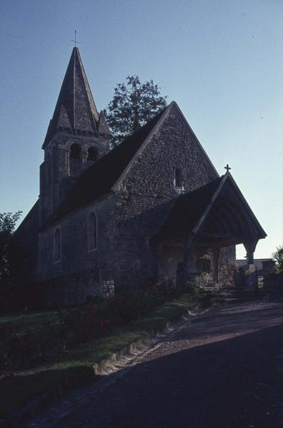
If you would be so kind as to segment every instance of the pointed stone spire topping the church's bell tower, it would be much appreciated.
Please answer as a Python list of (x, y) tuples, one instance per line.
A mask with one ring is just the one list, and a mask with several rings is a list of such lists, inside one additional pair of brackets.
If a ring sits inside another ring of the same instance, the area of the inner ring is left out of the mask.
[(96, 134), (98, 122), (99, 115), (81, 62), (79, 49), (75, 47), (71, 53), (43, 148), (57, 131)]

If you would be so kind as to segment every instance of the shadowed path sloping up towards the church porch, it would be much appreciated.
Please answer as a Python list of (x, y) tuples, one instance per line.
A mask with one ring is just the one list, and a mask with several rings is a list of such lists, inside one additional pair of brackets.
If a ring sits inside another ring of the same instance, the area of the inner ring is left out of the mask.
[(283, 427), (283, 302), (214, 308), (29, 427)]

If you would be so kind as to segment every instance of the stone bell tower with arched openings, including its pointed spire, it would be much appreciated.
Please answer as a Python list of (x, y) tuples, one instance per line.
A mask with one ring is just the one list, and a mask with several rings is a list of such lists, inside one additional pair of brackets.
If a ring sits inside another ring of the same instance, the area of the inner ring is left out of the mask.
[(41, 225), (54, 213), (79, 175), (109, 151), (110, 136), (104, 114), (96, 110), (79, 49), (75, 47), (42, 146)]

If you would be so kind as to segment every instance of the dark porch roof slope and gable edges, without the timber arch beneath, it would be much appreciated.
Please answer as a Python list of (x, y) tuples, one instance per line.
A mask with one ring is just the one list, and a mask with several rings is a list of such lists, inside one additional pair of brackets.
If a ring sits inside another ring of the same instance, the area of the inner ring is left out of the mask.
[[(156, 244), (163, 240), (182, 238), (184, 233), (189, 233), (192, 236), (197, 235), (197, 233), (202, 229), (202, 225), (204, 225), (207, 220), (209, 213), (212, 213), (216, 201), (222, 196), (222, 190), (224, 189), (225, 183), (227, 183), (234, 192), (239, 215), (242, 215), (243, 210), (246, 213), (245, 222), (249, 219), (249, 223), (252, 225), (252, 233), (257, 236), (258, 239), (265, 238), (267, 234), (262, 229), (262, 226), (259, 224), (257, 218), (252, 212), (252, 209), (244, 199), (244, 196), (239, 190), (237, 184), (234, 182), (232, 175), (230, 173), (226, 173), (225, 175), (222, 175), (222, 177), (219, 177), (190, 193), (179, 195), (169, 211), (164, 224), (152, 237), (151, 242)], [(222, 220), (224, 219), (222, 218)]]

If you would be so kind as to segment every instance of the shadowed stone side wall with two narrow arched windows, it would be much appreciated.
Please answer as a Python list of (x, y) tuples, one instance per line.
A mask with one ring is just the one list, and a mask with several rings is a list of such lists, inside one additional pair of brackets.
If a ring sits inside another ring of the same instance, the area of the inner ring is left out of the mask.
[[(92, 211), (96, 213), (97, 220), (97, 248), (89, 251), (88, 218)], [(54, 233), (57, 227), (61, 233), (61, 260), (54, 262)], [(109, 195), (74, 211), (61, 219), (59, 223), (39, 233), (37, 279), (42, 281), (61, 277), (59, 282), (64, 283), (67, 289), (68, 275), (71, 275), (71, 277), (69, 276), (70, 290), (79, 284), (80, 286), (84, 284), (87, 287), (83, 288), (88, 288), (85, 297), (86, 295), (99, 295), (99, 283), (112, 280), (113, 277), (111, 266), (111, 260), (114, 260), (113, 252), (114, 195)], [(89, 273), (86, 275), (86, 272)], [(62, 280), (64, 277), (66, 277), (65, 280)], [(91, 284), (93, 288), (90, 293)], [(69, 291), (70, 296), (71, 294), (72, 292)], [(58, 295), (60, 295), (60, 300), (68, 300), (67, 297), (62, 297), (61, 291), (58, 291)], [(80, 293), (78, 293), (79, 295)], [(82, 297), (79, 300), (82, 300)]]

